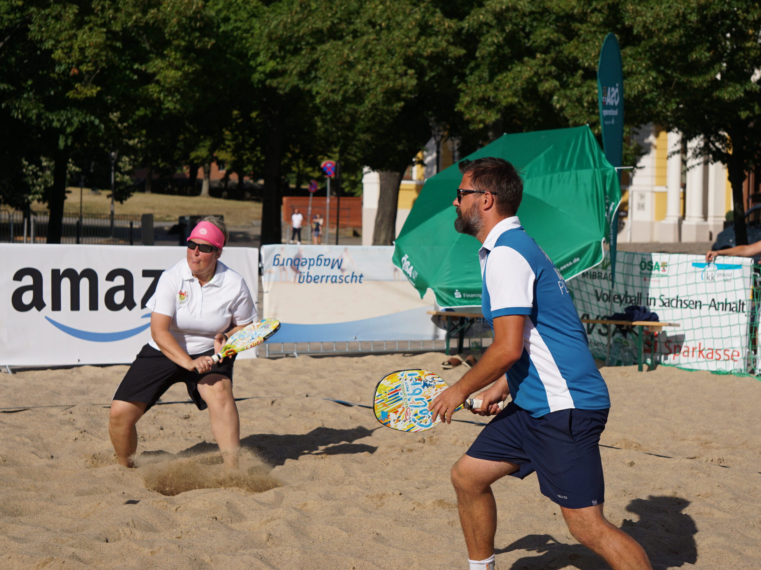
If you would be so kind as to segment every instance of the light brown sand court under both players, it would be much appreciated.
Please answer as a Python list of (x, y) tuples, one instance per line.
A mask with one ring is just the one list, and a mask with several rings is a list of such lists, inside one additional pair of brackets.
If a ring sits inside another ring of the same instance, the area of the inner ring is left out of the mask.
[[(384, 374), (441, 354), (240, 361), (241, 469), (207, 412), (154, 406), (139, 467), (116, 465), (107, 403), (125, 366), (0, 376), (2, 568), (466, 568), (449, 482), (479, 427), (381, 427)], [(761, 568), (761, 382), (659, 367), (603, 368), (613, 400), (601, 448), (605, 511), (654, 568)], [(164, 401), (186, 400), (183, 384)], [(456, 418), (479, 420), (468, 412)], [(536, 476), (495, 484), (498, 568), (606, 565), (578, 545)]]

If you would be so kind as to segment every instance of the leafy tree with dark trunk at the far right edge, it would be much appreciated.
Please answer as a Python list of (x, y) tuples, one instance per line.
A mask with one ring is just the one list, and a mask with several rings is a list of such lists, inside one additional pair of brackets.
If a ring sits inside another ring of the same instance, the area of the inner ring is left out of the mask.
[(699, 154), (727, 166), (736, 243), (747, 244), (743, 180), (761, 161), (761, 4), (649, 0), (630, 18), (651, 119), (699, 138)]

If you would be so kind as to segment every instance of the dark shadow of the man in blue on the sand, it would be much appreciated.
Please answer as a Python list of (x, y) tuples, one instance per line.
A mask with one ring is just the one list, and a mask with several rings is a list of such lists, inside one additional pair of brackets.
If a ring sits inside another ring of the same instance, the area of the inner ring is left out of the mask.
[[(683, 513), (689, 501), (678, 497), (635, 498), (626, 507), (637, 514), (638, 521), (624, 519), (622, 530), (642, 545), (650, 557), (653, 570), (680, 568), (695, 564), (698, 551), (695, 534), (698, 529), (693, 518)], [(606, 570), (610, 568), (594, 552), (581, 544), (566, 544), (549, 534), (529, 534), (496, 553), (511, 550), (530, 550), (538, 556), (524, 556), (511, 565), (511, 570)]]

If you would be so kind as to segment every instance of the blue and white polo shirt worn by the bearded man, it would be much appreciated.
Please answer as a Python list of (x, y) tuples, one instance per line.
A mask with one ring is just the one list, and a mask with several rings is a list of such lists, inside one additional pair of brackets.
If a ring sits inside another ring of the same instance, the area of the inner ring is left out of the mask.
[(610, 408), (587, 333), (565, 280), (517, 216), (500, 221), (479, 250), (483, 316), (527, 315), (524, 351), (508, 370), (513, 401), (538, 418), (559, 409)]

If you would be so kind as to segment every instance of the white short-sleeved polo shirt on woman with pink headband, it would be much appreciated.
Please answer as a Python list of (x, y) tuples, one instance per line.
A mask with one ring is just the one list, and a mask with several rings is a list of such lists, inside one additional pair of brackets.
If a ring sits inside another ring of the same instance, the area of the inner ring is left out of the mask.
[[(189, 355), (214, 348), (214, 337), (231, 326), (258, 320), (243, 277), (220, 261), (214, 277), (203, 287), (186, 260), (167, 269), (158, 279), (147, 307), (172, 317), (169, 332)], [(154, 339), (148, 344), (160, 350)]]

